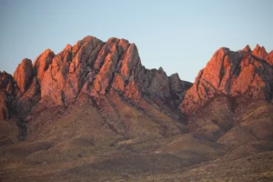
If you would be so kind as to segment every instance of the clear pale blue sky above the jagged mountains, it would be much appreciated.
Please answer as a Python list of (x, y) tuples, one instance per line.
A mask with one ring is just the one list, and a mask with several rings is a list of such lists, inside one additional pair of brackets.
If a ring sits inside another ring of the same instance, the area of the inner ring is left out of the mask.
[(147, 68), (193, 82), (221, 46), (273, 49), (271, 0), (0, 0), (0, 70), (86, 35), (135, 43)]

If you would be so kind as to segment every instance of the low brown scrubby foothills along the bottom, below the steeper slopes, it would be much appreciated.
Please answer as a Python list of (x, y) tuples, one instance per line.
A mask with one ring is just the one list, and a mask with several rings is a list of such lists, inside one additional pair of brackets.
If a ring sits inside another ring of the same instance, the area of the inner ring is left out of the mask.
[(83, 147), (88, 142), (2, 147), (1, 181), (273, 181), (273, 152), (257, 152), (272, 149), (268, 142), (248, 144), (259, 147), (248, 156), (191, 135)]

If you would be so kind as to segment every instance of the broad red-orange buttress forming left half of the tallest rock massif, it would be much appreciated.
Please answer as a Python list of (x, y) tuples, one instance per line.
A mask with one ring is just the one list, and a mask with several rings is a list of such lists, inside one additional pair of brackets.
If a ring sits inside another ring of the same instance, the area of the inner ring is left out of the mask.
[(76, 99), (102, 45), (92, 36), (86, 36), (74, 46), (66, 45), (44, 73), (41, 96), (50, 96), (58, 105)]

